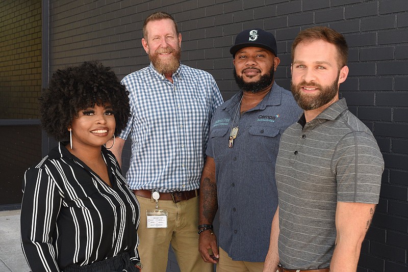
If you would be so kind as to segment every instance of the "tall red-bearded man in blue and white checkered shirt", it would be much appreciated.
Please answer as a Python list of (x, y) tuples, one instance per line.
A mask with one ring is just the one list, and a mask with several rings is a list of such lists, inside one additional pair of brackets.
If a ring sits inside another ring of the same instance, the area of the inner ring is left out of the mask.
[(198, 196), (211, 118), (223, 100), (210, 73), (180, 63), (181, 41), (170, 14), (151, 14), (142, 39), (151, 63), (122, 79), (132, 116), (112, 150), (121, 162), (130, 134), (126, 179), (140, 203), (143, 271), (166, 270), (170, 243), (182, 272), (213, 270), (197, 250)]

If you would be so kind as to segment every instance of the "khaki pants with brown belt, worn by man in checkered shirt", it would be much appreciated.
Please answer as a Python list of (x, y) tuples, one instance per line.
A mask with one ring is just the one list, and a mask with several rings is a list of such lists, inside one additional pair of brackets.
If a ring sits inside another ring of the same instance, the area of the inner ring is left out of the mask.
[(198, 198), (174, 203), (160, 200), (159, 209), (167, 210), (167, 228), (146, 228), (146, 210), (155, 209), (153, 199), (136, 196), (140, 204), (138, 247), (143, 272), (165, 272), (169, 244), (181, 272), (212, 272), (213, 264), (202, 260), (198, 252)]

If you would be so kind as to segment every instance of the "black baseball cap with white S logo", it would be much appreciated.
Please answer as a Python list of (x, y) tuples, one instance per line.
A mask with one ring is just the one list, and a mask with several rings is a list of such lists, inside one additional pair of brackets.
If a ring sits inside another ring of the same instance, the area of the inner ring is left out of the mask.
[(275, 37), (272, 33), (262, 29), (247, 29), (238, 34), (235, 38), (235, 44), (230, 48), (230, 53), (232, 53), (233, 58), (235, 58), (235, 53), (239, 49), (248, 46), (262, 47), (277, 56)]

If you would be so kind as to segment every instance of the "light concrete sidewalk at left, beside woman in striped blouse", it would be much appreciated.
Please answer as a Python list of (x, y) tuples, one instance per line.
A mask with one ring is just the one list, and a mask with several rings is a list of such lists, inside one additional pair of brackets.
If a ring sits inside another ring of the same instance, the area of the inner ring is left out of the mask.
[(29, 272), (20, 243), (20, 210), (0, 211), (0, 272)]

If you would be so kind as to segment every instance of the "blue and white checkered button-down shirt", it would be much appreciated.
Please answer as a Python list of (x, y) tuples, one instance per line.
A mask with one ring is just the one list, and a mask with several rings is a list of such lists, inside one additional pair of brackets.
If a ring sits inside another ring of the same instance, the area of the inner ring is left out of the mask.
[(180, 65), (172, 78), (173, 83), (150, 64), (122, 79), (132, 116), (119, 137), (131, 133), (131, 189), (199, 187), (211, 118), (223, 100), (208, 72)]

